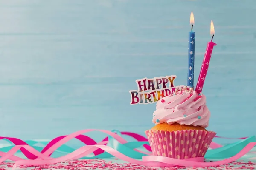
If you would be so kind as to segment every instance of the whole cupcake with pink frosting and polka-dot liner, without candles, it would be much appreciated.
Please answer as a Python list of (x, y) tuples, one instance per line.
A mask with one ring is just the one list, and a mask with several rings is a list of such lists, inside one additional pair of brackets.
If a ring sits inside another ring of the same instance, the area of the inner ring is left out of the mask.
[(146, 130), (153, 155), (175, 159), (204, 157), (216, 135), (205, 128), (210, 111), (206, 97), (193, 88), (176, 88), (157, 102), (151, 130)]

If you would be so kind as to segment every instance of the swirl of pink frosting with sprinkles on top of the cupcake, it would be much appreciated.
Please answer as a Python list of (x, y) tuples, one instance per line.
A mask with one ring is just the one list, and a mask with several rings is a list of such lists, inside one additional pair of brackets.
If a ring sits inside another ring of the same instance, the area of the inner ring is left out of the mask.
[(192, 89), (188, 91), (183, 88), (157, 102), (152, 122), (208, 127), (210, 115), (206, 97)]

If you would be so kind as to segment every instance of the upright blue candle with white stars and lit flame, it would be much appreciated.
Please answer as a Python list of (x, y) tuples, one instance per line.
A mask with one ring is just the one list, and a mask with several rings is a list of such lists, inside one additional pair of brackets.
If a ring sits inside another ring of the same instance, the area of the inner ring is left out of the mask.
[(191, 31), (189, 32), (188, 76), (187, 86), (194, 88), (195, 32), (193, 32), (194, 14), (190, 15)]

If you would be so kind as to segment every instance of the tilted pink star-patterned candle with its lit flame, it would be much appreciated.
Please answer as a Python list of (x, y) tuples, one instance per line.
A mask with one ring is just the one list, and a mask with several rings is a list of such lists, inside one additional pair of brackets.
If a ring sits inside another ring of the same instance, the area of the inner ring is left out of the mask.
[[(211, 21), (210, 33), (211, 33), (212, 39), (213, 39), (215, 31), (214, 31), (214, 26), (213, 26), (212, 21)], [(199, 74), (199, 77), (198, 77), (198, 82), (197, 82), (197, 85), (196, 85), (196, 88), (195, 88), (195, 91), (198, 94), (200, 94), (202, 92), (202, 89), (204, 87), (204, 80), (205, 80), (205, 77), (206, 77), (206, 74), (207, 74), (207, 71), (208, 71), (208, 67), (209, 67), (209, 63), (210, 63), (210, 59), (211, 59), (211, 55), (212, 55), (212, 50), (213, 50), (213, 47), (215, 45), (217, 45), (217, 44), (212, 42), (212, 40), (211, 40), (211, 42), (207, 43), (206, 51), (205, 51), (205, 54), (204, 54), (204, 60), (203, 60), (201, 71), (200, 71), (200, 74)]]

